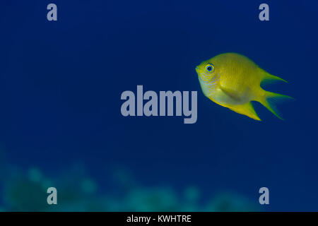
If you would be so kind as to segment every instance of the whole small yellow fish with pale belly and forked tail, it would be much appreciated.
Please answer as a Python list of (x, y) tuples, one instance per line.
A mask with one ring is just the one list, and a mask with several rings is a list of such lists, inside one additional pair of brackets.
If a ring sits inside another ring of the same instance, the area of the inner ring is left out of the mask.
[(269, 99), (291, 98), (261, 88), (264, 81), (284, 81), (259, 68), (252, 60), (235, 53), (219, 54), (196, 66), (199, 82), (206, 97), (239, 114), (261, 121), (251, 101), (260, 102), (279, 117)]

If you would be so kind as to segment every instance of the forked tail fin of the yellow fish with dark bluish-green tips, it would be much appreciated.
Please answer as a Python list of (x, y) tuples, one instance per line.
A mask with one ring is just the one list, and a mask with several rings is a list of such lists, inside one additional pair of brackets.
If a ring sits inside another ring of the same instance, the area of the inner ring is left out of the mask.
[(276, 108), (276, 103), (282, 100), (293, 100), (293, 97), (264, 90), (264, 94), (259, 98), (259, 102), (264, 105), (264, 107), (269, 109), (271, 113), (275, 114), (278, 119), (283, 120), (283, 118), (280, 116), (280, 112)]

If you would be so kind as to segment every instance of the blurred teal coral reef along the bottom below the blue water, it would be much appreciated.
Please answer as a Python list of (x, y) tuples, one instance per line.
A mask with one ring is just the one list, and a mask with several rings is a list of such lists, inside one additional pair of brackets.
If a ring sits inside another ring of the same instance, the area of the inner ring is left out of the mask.
[[(124, 169), (112, 177), (116, 191), (101, 192), (88, 177), (85, 167), (76, 165), (59, 177), (47, 177), (40, 169), (8, 167), (0, 155), (0, 211), (257, 211), (246, 198), (223, 193), (202, 202), (198, 188), (189, 186), (177, 193), (167, 186), (139, 185)], [(9, 176), (8, 176), (9, 175)], [(57, 205), (47, 204), (47, 188), (58, 192)]]

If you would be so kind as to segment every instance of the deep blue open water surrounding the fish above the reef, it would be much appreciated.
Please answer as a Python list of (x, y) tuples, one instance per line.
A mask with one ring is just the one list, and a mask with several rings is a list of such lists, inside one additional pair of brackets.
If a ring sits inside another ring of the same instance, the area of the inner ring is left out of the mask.
[[(317, 1), (2, 2), (1, 150), (8, 165), (52, 177), (81, 162), (101, 190), (116, 189), (109, 172), (123, 167), (144, 186), (197, 186), (203, 199), (234, 191), (258, 206), (266, 186), (261, 210), (318, 210), (317, 23)], [(266, 88), (295, 97), (278, 105), (284, 121), (204, 97), (194, 68), (223, 52), (288, 81)], [(196, 124), (123, 117), (120, 95), (136, 85), (197, 90)]]

